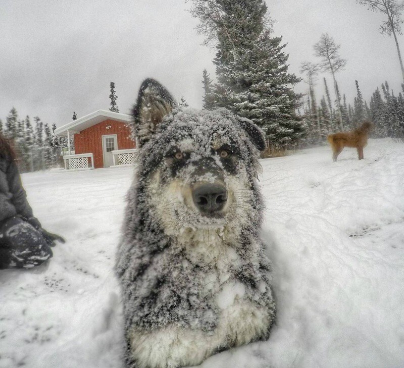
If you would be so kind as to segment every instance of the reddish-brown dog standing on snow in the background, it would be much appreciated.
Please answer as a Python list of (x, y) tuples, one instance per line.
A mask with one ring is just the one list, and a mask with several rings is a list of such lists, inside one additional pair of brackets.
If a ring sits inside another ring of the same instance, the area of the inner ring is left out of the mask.
[(332, 147), (332, 160), (337, 161), (338, 154), (344, 147), (355, 147), (358, 149), (358, 158), (363, 160), (363, 148), (368, 144), (368, 135), (373, 127), (370, 121), (364, 122), (359, 128), (349, 132), (330, 134), (327, 137)]

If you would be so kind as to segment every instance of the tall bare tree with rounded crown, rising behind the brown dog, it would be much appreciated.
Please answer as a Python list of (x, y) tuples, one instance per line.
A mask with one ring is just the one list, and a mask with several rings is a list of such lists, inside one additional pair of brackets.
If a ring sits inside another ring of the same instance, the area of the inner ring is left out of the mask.
[(335, 80), (335, 73), (338, 70), (342, 70), (346, 65), (346, 60), (338, 55), (338, 50), (341, 45), (336, 44), (334, 38), (328, 33), (323, 33), (320, 37), (320, 41), (313, 47), (315, 51), (314, 55), (321, 59), (321, 70), (332, 74), (332, 79), (334, 80), (334, 91), (337, 97), (339, 125), (340, 129), (343, 130), (341, 104), (338, 98), (337, 82)]

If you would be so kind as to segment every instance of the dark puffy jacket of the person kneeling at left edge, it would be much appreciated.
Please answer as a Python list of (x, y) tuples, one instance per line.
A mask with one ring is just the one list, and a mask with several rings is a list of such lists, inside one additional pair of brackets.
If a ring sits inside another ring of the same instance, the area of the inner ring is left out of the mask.
[(16, 164), (0, 157), (0, 223), (12, 216), (32, 217), (32, 208), (21, 183)]

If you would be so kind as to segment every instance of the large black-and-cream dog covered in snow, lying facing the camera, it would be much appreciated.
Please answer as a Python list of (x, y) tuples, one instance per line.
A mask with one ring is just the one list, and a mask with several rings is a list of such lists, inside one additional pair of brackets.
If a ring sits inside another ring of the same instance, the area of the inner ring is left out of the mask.
[(116, 272), (127, 367), (199, 364), (265, 340), (275, 317), (256, 184), (262, 132), (225, 109), (176, 109), (146, 79)]

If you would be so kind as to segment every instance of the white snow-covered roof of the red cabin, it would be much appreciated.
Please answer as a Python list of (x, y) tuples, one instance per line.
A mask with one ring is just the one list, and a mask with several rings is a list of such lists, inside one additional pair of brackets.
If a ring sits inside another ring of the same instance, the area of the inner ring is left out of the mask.
[(67, 137), (68, 130), (71, 134), (79, 134), (82, 130), (108, 119), (123, 123), (131, 123), (133, 121), (133, 118), (127, 114), (114, 113), (109, 110), (97, 110), (91, 114), (85, 115), (79, 119), (73, 120), (70, 123), (56, 128), (55, 134)]

